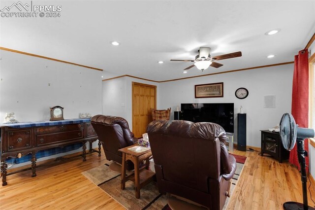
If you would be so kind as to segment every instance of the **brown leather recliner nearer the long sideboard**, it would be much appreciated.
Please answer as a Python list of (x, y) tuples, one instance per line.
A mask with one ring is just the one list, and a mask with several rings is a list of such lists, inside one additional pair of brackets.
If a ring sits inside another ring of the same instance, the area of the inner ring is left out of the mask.
[[(95, 115), (91, 124), (101, 141), (107, 160), (122, 164), (122, 153), (118, 149), (133, 145), (138, 141), (129, 130), (128, 122), (122, 117)], [(127, 170), (133, 170), (131, 161), (127, 161)]]

